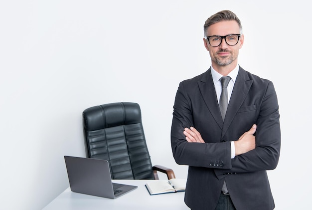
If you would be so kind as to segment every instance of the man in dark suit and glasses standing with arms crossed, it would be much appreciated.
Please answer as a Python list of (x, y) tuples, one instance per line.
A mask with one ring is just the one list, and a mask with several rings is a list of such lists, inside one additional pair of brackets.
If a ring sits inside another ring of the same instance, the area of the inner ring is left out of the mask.
[(204, 36), (211, 67), (179, 84), (173, 107), (173, 157), (189, 166), (185, 203), (191, 210), (273, 210), (266, 171), (277, 167), (281, 147), (273, 83), (238, 65), (244, 35), (233, 12), (210, 16)]

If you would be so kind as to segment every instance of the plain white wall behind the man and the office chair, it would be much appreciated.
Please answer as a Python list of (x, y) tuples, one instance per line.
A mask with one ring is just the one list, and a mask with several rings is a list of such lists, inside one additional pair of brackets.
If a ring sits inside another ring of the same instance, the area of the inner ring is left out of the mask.
[(82, 111), (104, 103), (138, 102), (153, 164), (186, 178), (170, 149), (174, 96), (210, 66), (202, 26), (223, 9), (243, 24), (240, 65), (278, 93), (276, 210), (311, 208), (308, 1), (1, 0), (0, 209), (39, 210), (69, 186), (63, 156), (85, 156)]

